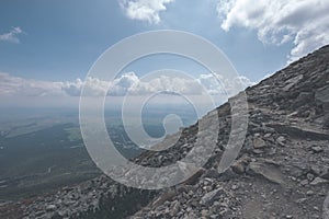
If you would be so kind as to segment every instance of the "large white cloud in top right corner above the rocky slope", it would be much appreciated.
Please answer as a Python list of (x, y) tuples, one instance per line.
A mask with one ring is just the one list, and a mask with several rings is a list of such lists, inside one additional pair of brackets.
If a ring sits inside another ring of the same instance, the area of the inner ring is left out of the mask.
[(264, 44), (292, 42), (288, 61), (329, 43), (328, 0), (220, 0), (217, 12), (222, 28), (252, 28)]

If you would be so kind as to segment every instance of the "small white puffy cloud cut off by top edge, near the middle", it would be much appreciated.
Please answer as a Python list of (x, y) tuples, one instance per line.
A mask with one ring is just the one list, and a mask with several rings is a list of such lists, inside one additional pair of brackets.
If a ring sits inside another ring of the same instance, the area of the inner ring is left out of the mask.
[(159, 23), (161, 11), (166, 11), (166, 4), (174, 0), (120, 0), (120, 5), (127, 18), (132, 20)]

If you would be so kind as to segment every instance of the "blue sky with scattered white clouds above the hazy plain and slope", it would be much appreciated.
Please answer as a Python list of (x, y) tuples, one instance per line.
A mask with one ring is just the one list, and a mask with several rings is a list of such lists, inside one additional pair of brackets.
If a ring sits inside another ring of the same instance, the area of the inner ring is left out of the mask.
[[(95, 95), (109, 87), (87, 73), (110, 46), (156, 30), (206, 38), (228, 57), (237, 78), (251, 85), (328, 44), (328, 0), (2, 0), (0, 107), (77, 105), (88, 81)], [(195, 80), (162, 77), (141, 83), (163, 62), (184, 66)], [(160, 56), (127, 67), (106, 93), (143, 95), (170, 87), (195, 95), (201, 82), (212, 95), (230, 94), (214, 81), (191, 61)]]

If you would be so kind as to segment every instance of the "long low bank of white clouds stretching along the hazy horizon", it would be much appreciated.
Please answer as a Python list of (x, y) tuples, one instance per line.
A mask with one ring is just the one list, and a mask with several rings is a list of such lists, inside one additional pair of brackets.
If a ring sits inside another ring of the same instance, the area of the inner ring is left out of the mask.
[(161, 74), (149, 80), (138, 78), (134, 72), (127, 72), (112, 82), (97, 78), (86, 81), (41, 81), (23, 79), (0, 72), (0, 96), (79, 96), (82, 88), (89, 96), (125, 96), (146, 95), (155, 93), (183, 95), (234, 95), (235, 84), (242, 83), (243, 88), (253, 83), (246, 77), (229, 81), (224, 77), (219, 81), (211, 73), (201, 74), (197, 79)]

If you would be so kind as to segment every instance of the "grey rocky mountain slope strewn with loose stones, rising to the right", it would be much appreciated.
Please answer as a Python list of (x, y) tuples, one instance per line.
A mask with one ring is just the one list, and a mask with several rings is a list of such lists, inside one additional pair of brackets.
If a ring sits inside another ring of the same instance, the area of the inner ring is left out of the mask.
[[(2, 203), (0, 218), (329, 219), (329, 46), (246, 93), (248, 132), (224, 173), (217, 168), (230, 132), (228, 103), (216, 110), (218, 147), (186, 182), (141, 191), (101, 176), (47, 196)], [(172, 148), (135, 162), (158, 166), (180, 160), (193, 148), (196, 131), (191, 126)]]

